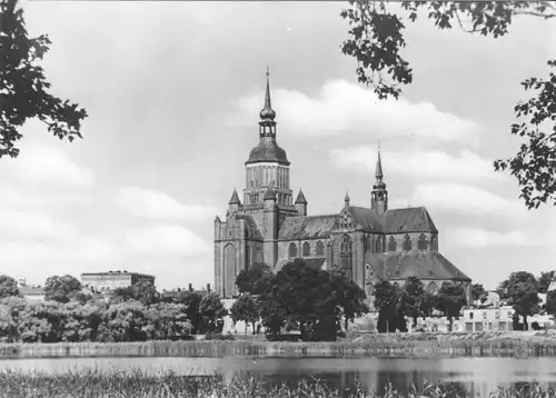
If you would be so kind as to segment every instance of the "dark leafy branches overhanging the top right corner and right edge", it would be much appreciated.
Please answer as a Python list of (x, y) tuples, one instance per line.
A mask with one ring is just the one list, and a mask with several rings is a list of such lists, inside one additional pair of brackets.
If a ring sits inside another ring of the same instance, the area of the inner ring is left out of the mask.
[[(400, 7), (370, 0), (349, 3), (351, 7), (340, 12), (350, 26), (341, 51), (357, 60), (359, 82), (373, 86), (379, 99), (397, 99), (400, 86), (413, 82), (413, 69), (400, 50), (406, 47), (406, 24), (415, 22), (421, 11), (440, 30), (459, 27), (467, 33), (494, 38), (507, 34), (517, 16), (556, 17), (556, 6), (549, 1), (405, 1)], [(391, 12), (391, 7), (397, 9)], [(548, 66), (555, 67), (556, 61), (548, 61)], [(556, 205), (556, 76), (527, 79), (522, 86), (538, 90), (538, 94), (515, 107), (517, 118), (529, 120), (512, 125), (510, 132), (528, 141), (513, 158), (496, 160), (494, 169), (508, 170), (517, 179), (520, 198), (529, 209), (547, 201)]]

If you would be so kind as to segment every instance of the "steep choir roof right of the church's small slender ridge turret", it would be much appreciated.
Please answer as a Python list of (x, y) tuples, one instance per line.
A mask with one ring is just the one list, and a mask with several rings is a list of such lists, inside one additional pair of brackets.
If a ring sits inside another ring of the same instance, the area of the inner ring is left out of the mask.
[(386, 233), (438, 232), (430, 215), (424, 207), (387, 210), (383, 222)]

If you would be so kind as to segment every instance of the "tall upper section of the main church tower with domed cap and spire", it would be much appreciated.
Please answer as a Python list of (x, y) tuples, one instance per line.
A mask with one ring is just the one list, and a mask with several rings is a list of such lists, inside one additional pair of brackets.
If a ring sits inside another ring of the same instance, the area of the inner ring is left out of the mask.
[(294, 208), (292, 191), (289, 188), (289, 161), (286, 151), (276, 141), (276, 112), (270, 101), (270, 73), (267, 70), (265, 107), (260, 111), (259, 143), (251, 149), (246, 161), (246, 209), (262, 207), (265, 192), (272, 186), (276, 205)]

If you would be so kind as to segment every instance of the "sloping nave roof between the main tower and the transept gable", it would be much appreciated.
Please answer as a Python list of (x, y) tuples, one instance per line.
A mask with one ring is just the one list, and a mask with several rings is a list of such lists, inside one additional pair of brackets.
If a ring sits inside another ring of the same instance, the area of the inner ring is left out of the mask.
[(338, 216), (290, 217), (281, 225), (278, 239), (296, 240), (310, 238), (327, 238)]

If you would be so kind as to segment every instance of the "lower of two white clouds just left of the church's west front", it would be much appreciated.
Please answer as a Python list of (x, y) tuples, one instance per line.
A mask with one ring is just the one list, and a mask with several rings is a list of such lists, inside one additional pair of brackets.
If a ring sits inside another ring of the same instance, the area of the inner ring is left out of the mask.
[(176, 225), (130, 230), (127, 243), (131, 250), (151, 255), (197, 256), (210, 251), (210, 246), (200, 237)]

